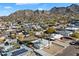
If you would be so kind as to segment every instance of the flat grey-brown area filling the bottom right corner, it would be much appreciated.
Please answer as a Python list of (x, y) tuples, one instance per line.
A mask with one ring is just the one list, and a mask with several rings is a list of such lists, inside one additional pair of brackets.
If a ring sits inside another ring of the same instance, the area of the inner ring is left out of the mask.
[(62, 53), (58, 53), (56, 56), (76, 56), (77, 53), (79, 54), (79, 49), (71, 45), (64, 49)]

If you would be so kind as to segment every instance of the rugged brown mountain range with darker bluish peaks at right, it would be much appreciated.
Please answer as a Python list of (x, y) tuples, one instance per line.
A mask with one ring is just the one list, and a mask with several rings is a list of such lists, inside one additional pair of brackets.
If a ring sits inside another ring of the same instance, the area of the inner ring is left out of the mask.
[(1, 16), (1, 21), (16, 22), (44, 22), (50, 19), (61, 20), (63, 17), (66, 20), (71, 18), (79, 19), (79, 5), (72, 4), (67, 7), (53, 7), (50, 10), (18, 10), (8, 16)]

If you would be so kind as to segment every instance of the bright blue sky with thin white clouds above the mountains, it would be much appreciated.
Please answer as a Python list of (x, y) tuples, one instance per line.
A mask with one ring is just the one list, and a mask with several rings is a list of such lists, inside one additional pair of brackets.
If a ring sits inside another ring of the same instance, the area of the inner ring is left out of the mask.
[(0, 16), (9, 15), (16, 10), (49, 10), (52, 7), (66, 7), (70, 3), (0, 3)]

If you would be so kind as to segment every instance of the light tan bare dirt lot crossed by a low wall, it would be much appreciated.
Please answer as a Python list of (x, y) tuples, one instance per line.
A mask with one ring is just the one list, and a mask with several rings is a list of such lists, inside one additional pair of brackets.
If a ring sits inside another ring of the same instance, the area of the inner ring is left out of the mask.
[(56, 40), (53, 41), (52, 45), (49, 47), (46, 47), (43, 49), (43, 51), (55, 55), (57, 53), (61, 53), (60, 51), (63, 51), (65, 47), (69, 46), (69, 42), (72, 40), (69, 39), (62, 39), (62, 40)]

